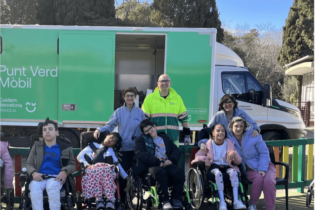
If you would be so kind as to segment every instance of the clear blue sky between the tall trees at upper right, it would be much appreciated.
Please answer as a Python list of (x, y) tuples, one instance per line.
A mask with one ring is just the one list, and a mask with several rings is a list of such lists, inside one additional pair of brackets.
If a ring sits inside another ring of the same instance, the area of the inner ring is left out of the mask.
[(272, 23), (275, 29), (282, 30), (293, 0), (216, 0), (221, 22), (232, 28), (248, 24)]

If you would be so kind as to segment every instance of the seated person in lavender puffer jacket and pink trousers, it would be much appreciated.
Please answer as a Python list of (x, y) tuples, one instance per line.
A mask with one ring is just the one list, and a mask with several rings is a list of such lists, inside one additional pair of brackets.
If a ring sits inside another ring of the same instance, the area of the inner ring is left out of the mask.
[(242, 157), (243, 172), (253, 184), (250, 190), (250, 205), (248, 210), (256, 210), (256, 204), (264, 189), (264, 199), (267, 210), (274, 210), (276, 202), (276, 168), (270, 162), (269, 151), (259, 134), (252, 137), (252, 124), (243, 117), (235, 116), (229, 124), (227, 138)]

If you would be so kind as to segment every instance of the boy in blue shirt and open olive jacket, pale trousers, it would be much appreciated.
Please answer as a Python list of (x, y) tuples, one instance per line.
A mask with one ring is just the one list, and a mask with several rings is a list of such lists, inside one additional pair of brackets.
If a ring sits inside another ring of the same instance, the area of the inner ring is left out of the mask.
[[(43, 140), (36, 141), (26, 161), (26, 170), (31, 177), (29, 184), (33, 210), (43, 210), (43, 190), (49, 197), (50, 210), (60, 210), (60, 189), (67, 176), (76, 171), (71, 142), (57, 139), (58, 125), (49, 120), (43, 123)], [(49, 179), (43, 179), (49, 174)]]

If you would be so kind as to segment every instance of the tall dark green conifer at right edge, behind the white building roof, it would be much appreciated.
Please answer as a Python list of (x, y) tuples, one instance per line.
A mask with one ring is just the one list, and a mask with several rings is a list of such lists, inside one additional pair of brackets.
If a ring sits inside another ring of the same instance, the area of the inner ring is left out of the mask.
[[(314, 0), (294, 0), (283, 27), (277, 60), (281, 66), (314, 54)], [(301, 101), (302, 76), (297, 76), (297, 99)]]

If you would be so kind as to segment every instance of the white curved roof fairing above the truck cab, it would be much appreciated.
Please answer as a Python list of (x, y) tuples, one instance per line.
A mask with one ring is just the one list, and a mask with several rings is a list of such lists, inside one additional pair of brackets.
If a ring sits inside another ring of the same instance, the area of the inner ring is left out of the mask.
[(244, 67), (242, 59), (225, 45), (216, 42), (215, 65), (232, 65)]

